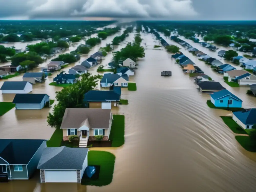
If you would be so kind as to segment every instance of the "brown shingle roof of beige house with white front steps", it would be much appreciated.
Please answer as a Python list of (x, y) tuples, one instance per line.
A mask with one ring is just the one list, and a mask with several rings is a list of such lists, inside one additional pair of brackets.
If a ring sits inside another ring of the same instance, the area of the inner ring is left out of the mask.
[(60, 129), (78, 129), (88, 119), (89, 129), (108, 129), (110, 109), (66, 108)]

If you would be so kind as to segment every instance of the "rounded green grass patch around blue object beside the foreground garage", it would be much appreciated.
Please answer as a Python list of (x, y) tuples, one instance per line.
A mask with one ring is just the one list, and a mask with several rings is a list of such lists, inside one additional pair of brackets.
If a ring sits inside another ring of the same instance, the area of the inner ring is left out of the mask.
[(93, 180), (86, 177), (86, 173), (81, 179), (82, 185), (105, 186), (109, 185), (113, 179), (115, 156), (106, 151), (89, 151), (88, 152), (88, 166), (100, 166), (99, 178)]

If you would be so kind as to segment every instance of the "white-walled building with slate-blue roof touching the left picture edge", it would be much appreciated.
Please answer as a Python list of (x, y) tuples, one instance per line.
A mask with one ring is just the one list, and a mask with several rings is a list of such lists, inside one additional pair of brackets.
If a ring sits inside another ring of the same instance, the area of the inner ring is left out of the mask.
[(33, 89), (28, 81), (5, 81), (1, 87), (2, 94), (29, 93)]

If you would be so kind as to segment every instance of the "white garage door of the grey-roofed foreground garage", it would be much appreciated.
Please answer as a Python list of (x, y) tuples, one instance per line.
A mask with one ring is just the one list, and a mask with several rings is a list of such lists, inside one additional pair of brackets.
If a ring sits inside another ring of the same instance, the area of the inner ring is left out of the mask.
[(45, 170), (45, 182), (77, 183), (76, 170)]

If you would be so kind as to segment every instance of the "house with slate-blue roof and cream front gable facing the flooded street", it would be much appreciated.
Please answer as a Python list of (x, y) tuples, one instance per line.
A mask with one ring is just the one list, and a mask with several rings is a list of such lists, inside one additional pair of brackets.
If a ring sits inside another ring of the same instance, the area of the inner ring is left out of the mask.
[(119, 87), (128, 87), (128, 76), (120, 76), (113, 73), (105, 73), (100, 81), (101, 87), (110, 87), (112, 85)]

